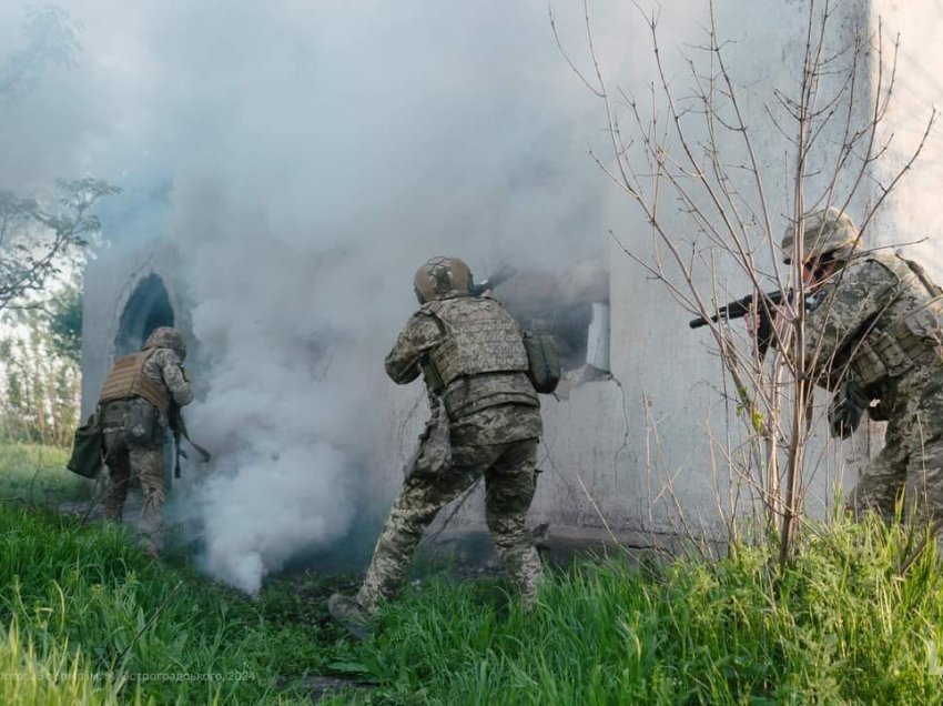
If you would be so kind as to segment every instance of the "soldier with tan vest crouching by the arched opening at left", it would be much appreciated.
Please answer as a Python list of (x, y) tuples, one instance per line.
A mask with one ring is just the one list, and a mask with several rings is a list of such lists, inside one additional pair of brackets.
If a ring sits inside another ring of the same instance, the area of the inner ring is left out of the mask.
[(109, 472), (104, 516), (121, 522), (128, 483), (134, 475), (144, 495), (140, 528), (152, 556), (163, 545), (168, 411), (193, 399), (183, 369), (185, 357), (186, 346), (176, 330), (155, 329), (141, 352), (114, 362), (99, 401)]

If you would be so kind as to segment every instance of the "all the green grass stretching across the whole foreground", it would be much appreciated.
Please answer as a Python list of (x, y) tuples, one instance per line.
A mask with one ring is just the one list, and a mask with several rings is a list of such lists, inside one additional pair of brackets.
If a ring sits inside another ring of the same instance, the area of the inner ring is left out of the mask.
[[(0, 447), (3, 478), (57, 468), (45, 454)], [(121, 527), (6, 502), (0, 703), (304, 704), (303, 677), (334, 675), (373, 688), (325, 704), (939, 704), (943, 573), (936, 543), (902, 571), (917, 541), (841, 518), (807, 527), (782, 575), (775, 546), (580, 563), (548, 572), (527, 614), (503, 581), (444, 572), (352, 643), (324, 598), (356, 577), (253, 599), (184, 556), (149, 561)]]

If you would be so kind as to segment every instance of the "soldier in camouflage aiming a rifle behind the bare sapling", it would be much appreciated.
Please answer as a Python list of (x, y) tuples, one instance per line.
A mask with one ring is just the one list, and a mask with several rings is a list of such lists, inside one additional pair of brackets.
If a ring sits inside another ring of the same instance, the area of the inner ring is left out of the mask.
[[(807, 371), (830, 390), (853, 383), (863, 393), (858, 404), (880, 401), (868, 411), (889, 422), (849, 507), (891, 518), (910, 485), (919, 506), (943, 518), (943, 291), (899, 254), (859, 252), (854, 223), (836, 209), (803, 225)], [(789, 263), (791, 232), (782, 246)]]

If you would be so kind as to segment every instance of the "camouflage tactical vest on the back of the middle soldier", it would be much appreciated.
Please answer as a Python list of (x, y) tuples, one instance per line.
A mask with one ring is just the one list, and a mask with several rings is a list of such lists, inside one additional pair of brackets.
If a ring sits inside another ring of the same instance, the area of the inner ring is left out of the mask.
[(423, 311), (440, 321), (446, 334), (429, 352), (443, 386), (463, 375), (527, 370), (520, 329), (496, 301), (457, 296), (429, 302)]

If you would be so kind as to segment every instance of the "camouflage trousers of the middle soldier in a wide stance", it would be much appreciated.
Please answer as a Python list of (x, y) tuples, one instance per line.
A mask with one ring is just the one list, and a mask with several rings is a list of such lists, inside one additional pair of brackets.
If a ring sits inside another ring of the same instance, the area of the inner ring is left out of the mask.
[(436, 475), (413, 476), (404, 483), (357, 593), (357, 603), (367, 613), (376, 611), (381, 598), (396, 594), (423, 532), (439, 510), (483, 474), (488, 530), (525, 604), (533, 604), (540, 577), (540, 556), (525, 520), (536, 487), (537, 440), (453, 446), (452, 462), (452, 466)]

